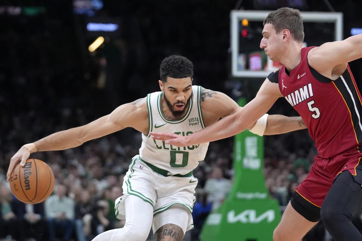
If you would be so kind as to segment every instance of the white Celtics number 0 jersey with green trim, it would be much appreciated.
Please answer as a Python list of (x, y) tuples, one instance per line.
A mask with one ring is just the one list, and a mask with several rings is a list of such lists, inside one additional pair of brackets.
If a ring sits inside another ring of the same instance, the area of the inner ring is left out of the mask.
[[(186, 115), (179, 120), (168, 120), (161, 108), (161, 96), (164, 93), (153, 92), (147, 95), (148, 132), (172, 132), (178, 135), (189, 135), (205, 128), (201, 110), (201, 86), (192, 86), (190, 107)], [(142, 134), (140, 158), (158, 168), (165, 169), (171, 175), (184, 175), (195, 169), (199, 161), (205, 159), (209, 143), (187, 147), (176, 147), (154, 140), (150, 134)]]

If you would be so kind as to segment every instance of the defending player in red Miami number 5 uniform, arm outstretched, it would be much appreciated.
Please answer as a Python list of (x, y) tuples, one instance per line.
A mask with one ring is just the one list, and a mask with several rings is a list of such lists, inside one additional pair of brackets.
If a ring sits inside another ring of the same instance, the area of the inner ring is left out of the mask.
[(362, 57), (362, 34), (304, 48), (299, 11), (281, 8), (265, 18), (262, 35), (260, 48), (283, 66), (268, 76), (250, 103), (187, 137), (153, 133), (154, 138), (189, 146), (230, 137), (284, 97), (306, 123), (319, 155), (291, 198), (273, 239), (300, 241), (322, 219), (335, 241), (362, 240), (352, 224), (362, 201), (362, 98), (348, 65)]

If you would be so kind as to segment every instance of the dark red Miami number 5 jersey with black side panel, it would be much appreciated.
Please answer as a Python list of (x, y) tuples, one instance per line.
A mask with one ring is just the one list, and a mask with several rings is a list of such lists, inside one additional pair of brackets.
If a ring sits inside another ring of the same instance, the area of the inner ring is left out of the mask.
[(285, 66), (279, 69), (279, 89), (307, 125), (319, 156), (332, 158), (359, 149), (361, 94), (349, 66), (335, 81), (314, 70), (307, 60), (311, 48), (302, 48), (300, 63), (290, 73)]

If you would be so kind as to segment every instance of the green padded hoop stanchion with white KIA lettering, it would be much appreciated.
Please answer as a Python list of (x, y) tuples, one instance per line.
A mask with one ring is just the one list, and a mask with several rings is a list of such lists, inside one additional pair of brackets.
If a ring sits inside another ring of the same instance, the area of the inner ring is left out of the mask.
[[(245, 99), (239, 100), (239, 106)], [(235, 136), (235, 179), (229, 197), (203, 225), (202, 241), (269, 241), (281, 212), (263, 175), (263, 137), (245, 130)]]

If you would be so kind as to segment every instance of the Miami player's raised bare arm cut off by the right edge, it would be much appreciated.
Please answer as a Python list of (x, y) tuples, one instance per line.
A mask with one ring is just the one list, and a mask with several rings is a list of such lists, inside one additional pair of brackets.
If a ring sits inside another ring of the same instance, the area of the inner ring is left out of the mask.
[(312, 48), (308, 53), (308, 63), (319, 73), (329, 77), (338, 65), (346, 66), (348, 62), (361, 57), (362, 34), (358, 34), (342, 41), (328, 42)]

